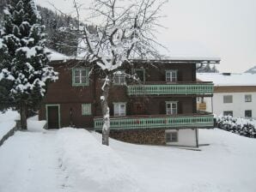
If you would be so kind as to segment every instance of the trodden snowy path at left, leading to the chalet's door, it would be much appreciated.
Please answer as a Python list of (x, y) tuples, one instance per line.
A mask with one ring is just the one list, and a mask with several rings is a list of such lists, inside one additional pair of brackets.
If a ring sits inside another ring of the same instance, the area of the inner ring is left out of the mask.
[(17, 132), (0, 147), (0, 172), (1, 192), (64, 191), (56, 132)]

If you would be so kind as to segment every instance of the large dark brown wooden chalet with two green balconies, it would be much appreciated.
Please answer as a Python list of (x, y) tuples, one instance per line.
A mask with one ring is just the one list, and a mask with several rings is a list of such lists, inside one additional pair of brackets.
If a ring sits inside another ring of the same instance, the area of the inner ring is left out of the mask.
[[(179, 57), (134, 60), (120, 69), (110, 90), (111, 137), (142, 144), (198, 147), (198, 129), (213, 128), (213, 115), (197, 111), (197, 98), (212, 97), (212, 82), (197, 81), (197, 63), (219, 63), (215, 58)], [(101, 131), (101, 81), (81, 61), (58, 57), (59, 73), (40, 108), (48, 129), (76, 127)], [(140, 83), (125, 79), (137, 74)]]

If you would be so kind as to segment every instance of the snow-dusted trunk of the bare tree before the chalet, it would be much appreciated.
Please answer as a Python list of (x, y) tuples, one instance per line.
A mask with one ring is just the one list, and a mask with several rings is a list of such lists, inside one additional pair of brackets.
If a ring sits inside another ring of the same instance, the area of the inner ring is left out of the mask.
[(101, 96), (101, 111), (103, 115), (102, 144), (106, 146), (109, 145), (109, 131), (110, 131), (109, 107), (107, 105), (109, 88), (110, 88), (110, 80), (106, 78), (105, 84), (102, 87), (103, 95)]

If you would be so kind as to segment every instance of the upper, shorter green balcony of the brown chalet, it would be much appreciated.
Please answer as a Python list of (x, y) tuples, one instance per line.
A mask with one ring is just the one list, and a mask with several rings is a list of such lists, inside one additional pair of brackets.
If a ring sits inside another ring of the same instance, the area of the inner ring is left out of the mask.
[(212, 82), (145, 82), (127, 87), (130, 96), (136, 95), (198, 95), (213, 94)]

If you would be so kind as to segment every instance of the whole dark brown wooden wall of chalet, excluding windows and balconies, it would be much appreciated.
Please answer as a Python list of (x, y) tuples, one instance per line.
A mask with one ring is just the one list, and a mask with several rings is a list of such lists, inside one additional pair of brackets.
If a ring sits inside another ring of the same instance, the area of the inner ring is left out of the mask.
[[(81, 63), (82, 64), (82, 63)], [(89, 85), (84, 87), (72, 86), (72, 67), (79, 67), (75, 61), (68, 63), (52, 63), (58, 72), (58, 81), (51, 83), (48, 87), (46, 97), (40, 109), (40, 119), (46, 119), (46, 105), (58, 104), (60, 106), (60, 126), (76, 126), (78, 128), (93, 128), (93, 117), (101, 116), (101, 86), (94, 74), (89, 77)], [(134, 69), (143, 67), (145, 69), (146, 81), (166, 81), (165, 71), (167, 69), (178, 70), (178, 81), (195, 81), (195, 64), (192, 63), (168, 63), (149, 64), (136, 63)], [(131, 73), (132, 69), (126, 69)], [(166, 114), (166, 101), (178, 101), (178, 114), (191, 114), (196, 112), (195, 98), (169, 96), (140, 96), (129, 97), (125, 86), (113, 86), (109, 93), (110, 114), (113, 116), (113, 102), (126, 102), (126, 115), (137, 115), (134, 108), (135, 102), (144, 104), (141, 115)], [(92, 115), (82, 116), (82, 104), (92, 105)]]

